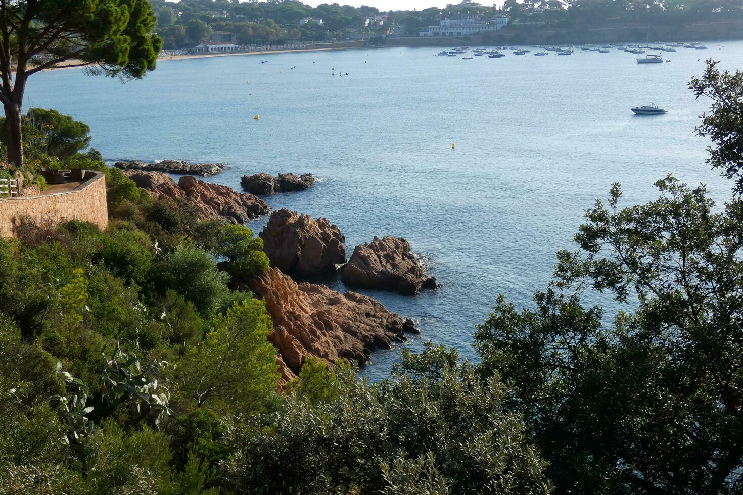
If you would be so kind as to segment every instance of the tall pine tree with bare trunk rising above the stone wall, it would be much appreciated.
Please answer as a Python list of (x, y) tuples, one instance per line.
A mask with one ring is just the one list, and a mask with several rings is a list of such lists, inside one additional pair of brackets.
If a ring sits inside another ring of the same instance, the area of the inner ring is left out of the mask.
[(0, 0), (0, 102), (7, 158), (22, 168), (22, 105), (28, 77), (67, 62), (91, 73), (140, 78), (162, 42), (147, 0)]

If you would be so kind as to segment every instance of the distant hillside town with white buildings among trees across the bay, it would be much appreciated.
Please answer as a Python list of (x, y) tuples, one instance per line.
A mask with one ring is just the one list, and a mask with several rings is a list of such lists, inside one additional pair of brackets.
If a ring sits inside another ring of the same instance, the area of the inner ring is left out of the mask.
[(445, 8), (387, 12), (339, 4), (311, 7), (295, 0), (155, 0), (152, 6), (158, 18), (156, 32), (163, 39), (163, 55), (301, 49), (349, 42), (354, 46), (359, 42), (406, 45), (406, 39), (410, 45), (442, 44), (441, 39), (609, 42), (612, 36), (619, 36), (617, 41), (637, 39), (649, 28), (658, 39), (672, 37), (677, 31), (684, 39), (724, 39), (738, 38), (743, 21), (740, 7), (712, 7), (701, 0), (683, 7), (660, 1), (644, 9), (609, 0), (592, 4), (507, 0), (501, 7), (464, 0)]

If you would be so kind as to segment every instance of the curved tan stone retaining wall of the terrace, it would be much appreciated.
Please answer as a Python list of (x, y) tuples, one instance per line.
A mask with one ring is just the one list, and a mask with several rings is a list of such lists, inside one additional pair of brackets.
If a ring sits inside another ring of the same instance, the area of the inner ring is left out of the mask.
[(106, 229), (106, 174), (93, 174), (93, 178), (74, 191), (0, 198), (0, 237), (13, 237), (13, 221), (19, 219), (30, 219), (39, 224), (82, 220)]

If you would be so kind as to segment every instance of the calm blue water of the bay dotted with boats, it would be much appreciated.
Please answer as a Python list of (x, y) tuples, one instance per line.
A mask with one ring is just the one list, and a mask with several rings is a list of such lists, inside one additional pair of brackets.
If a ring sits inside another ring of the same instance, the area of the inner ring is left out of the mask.
[[(26, 103), (87, 122), (109, 160), (223, 162), (210, 180), (235, 189), (243, 174), (315, 174), (322, 182), (309, 191), (268, 202), (328, 217), (349, 255), (374, 235), (408, 239), (444, 288), (366, 293), (418, 318), (421, 338), (406, 345), (430, 339), (472, 358), (473, 329), (499, 292), (531, 304), (554, 252), (571, 247), (583, 210), (612, 182), (627, 204), (653, 197), (669, 173), (727, 196), (730, 184), (704, 164), (707, 142), (692, 134), (708, 102), (687, 89), (708, 56), (743, 67), (743, 42), (722, 45), (679, 48), (658, 65), (614, 51), (462, 60), (435, 48), (166, 61), (126, 84), (39, 73)], [(668, 114), (629, 111), (651, 102)], [(366, 373), (384, 376), (399, 353), (375, 353)]]

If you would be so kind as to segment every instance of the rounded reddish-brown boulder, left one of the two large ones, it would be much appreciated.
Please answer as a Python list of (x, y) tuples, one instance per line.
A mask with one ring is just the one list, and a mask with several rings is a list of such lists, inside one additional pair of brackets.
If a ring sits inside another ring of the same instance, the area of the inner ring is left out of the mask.
[(271, 266), (288, 275), (319, 275), (345, 263), (345, 239), (325, 218), (276, 210), (259, 237)]

